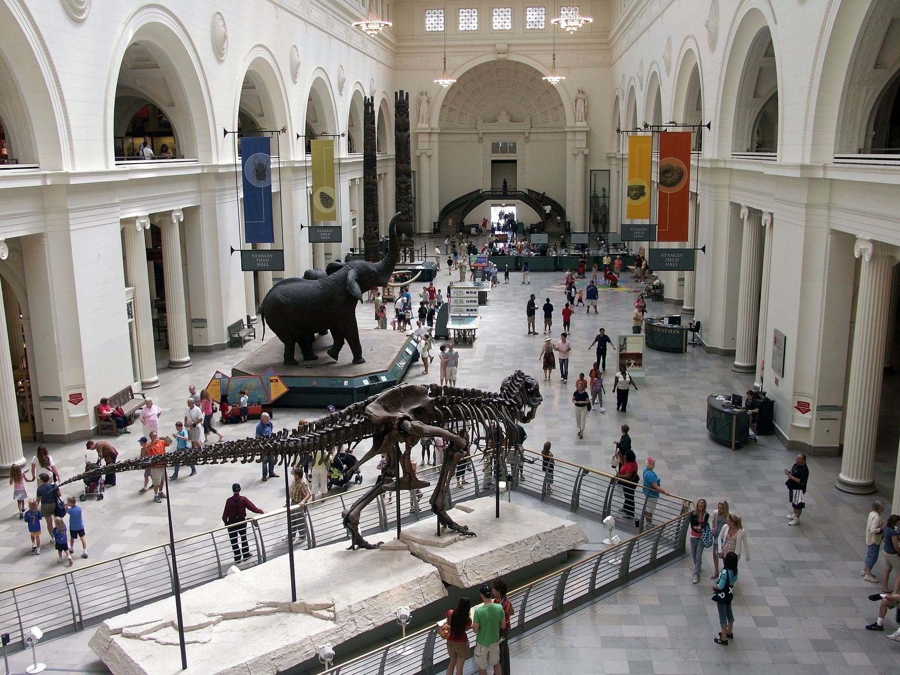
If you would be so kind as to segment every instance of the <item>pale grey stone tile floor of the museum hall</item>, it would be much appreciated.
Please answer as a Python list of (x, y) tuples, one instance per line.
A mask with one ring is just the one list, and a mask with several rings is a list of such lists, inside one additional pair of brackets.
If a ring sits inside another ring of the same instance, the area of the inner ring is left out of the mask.
[[(521, 284), (518, 274), (510, 275), (509, 285), (502, 284), (502, 273), (500, 276), (500, 286), (482, 308), (478, 339), (473, 346), (460, 347), (460, 386), (496, 391), (502, 377), (517, 368), (542, 378), (538, 353), (545, 336), (526, 334), (528, 293), (536, 294), (539, 307), (545, 298), (551, 299), (555, 308), (554, 340), (562, 330), (562, 273), (532, 273), (530, 285)], [(450, 278), (442, 269), (439, 284), (446, 287)], [(588, 346), (597, 329), (605, 327), (614, 338), (630, 332), (636, 289), (637, 284), (628, 282), (618, 292), (603, 290), (599, 316), (588, 316), (582, 308), (574, 315), (569, 383), (561, 383), (558, 372), (549, 383), (542, 382), (544, 404), (528, 428), (527, 446), (539, 450), (545, 440), (551, 440), (557, 457), (604, 468), (608, 467), (619, 425), (627, 422), (638, 457), (653, 455), (657, 459), (657, 472), (670, 491), (690, 499), (706, 498), (710, 505), (728, 500), (732, 511), (743, 518), (751, 545), (750, 560), (742, 562), (735, 591), (735, 638), (727, 647), (713, 642), (717, 617), (709, 599), (712, 581), (708, 579), (711, 569), (707, 554), (697, 586), (691, 584), (692, 563), (685, 558), (518, 639), (511, 645), (513, 671), (517, 675), (896, 675), (900, 672), (900, 644), (885, 638), (896, 627), (893, 612), (886, 619), (885, 633), (865, 630), (878, 611), (867, 595), (879, 587), (859, 576), (864, 553), (861, 533), (869, 505), (876, 497), (890, 503), (897, 453), (896, 417), (883, 415), (881, 419), (885, 428), (879, 436), (876, 464), (878, 495), (853, 497), (836, 491), (833, 485), (840, 460), (810, 458), (807, 511), (800, 527), (788, 527), (785, 518), (788, 504), (782, 470), (793, 463), (794, 455), (776, 437), (760, 437), (758, 444), (737, 452), (707, 437), (707, 394), (743, 393), (752, 385), (752, 376), (730, 370), (732, 359), (726, 356), (708, 355), (700, 347), (689, 347), (687, 355), (648, 349), (644, 356), (646, 381), (640, 391), (631, 393), (627, 413), (617, 412), (608, 398), (608, 411), (592, 412), (585, 437), (579, 439), (571, 403), (574, 381), (577, 374), (590, 370), (593, 350)], [(669, 313), (677, 307), (652, 302), (648, 313)], [(371, 329), (374, 321), (368, 320), (370, 306), (360, 308), (360, 312), (364, 319), (361, 327)], [(539, 328), (540, 313), (538, 310)], [(365, 345), (365, 335), (363, 342)], [(228, 371), (257, 344), (249, 343), (244, 350), (194, 354), (193, 367), (187, 370), (166, 370), (166, 355), (160, 353), (163, 386), (152, 395), (165, 411), (165, 427), (183, 414), (189, 384), (204, 386), (216, 369)], [(611, 351), (610, 356), (608, 391), (616, 363)], [(419, 365), (414, 365), (407, 382), (437, 382), (437, 371), (437, 362), (428, 375), (420, 374)], [(887, 378), (886, 387), (896, 387), (895, 378)], [(286, 410), (277, 415), (275, 426), (288, 426), (315, 414)], [(139, 428), (132, 429), (129, 436), (113, 441), (125, 458), (138, 453)], [(227, 437), (237, 437), (252, 434), (253, 429), (248, 423), (223, 431)], [(83, 442), (53, 446), (50, 452), (64, 476), (82, 470)], [(364, 474), (372, 479), (374, 465), (364, 467)], [(260, 479), (258, 466), (236, 464), (201, 467), (196, 476), (173, 483), (176, 536), (219, 527), (220, 509), (232, 482), (240, 482), (244, 494), (262, 509), (283, 506), (283, 483), (263, 483)], [(76, 558), (76, 564), (157, 545), (167, 538), (165, 505), (153, 503), (151, 493), (139, 494), (141, 482), (139, 475), (122, 475), (107, 499), (85, 502), (91, 559)], [(60, 571), (50, 546), (40, 558), (30, 554), (26, 528), (15, 516), (13, 503), (0, 530), (4, 533), (0, 546), (0, 584), (4, 588)], [(879, 562), (876, 573), (881, 569)], [(40, 645), (42, 659), (58, 671), (104, 672), (103, 664), (87, 651), (87, 639), (87, 634), (71, 635)], [(26, 661), (27, 654), (16, 654), (14, 667), (21, 671)], [(471, 663), (466, 672), (474, 672)]]

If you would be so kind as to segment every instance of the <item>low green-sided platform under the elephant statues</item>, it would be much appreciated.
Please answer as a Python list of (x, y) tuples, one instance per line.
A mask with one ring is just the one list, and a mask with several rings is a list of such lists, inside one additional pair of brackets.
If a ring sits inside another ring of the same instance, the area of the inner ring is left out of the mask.
[[(368, 318), (367, 313), (365, 317)], [(332, 359), (326, 354), (331, 337), (325, 335), (319, 336), (312, 346), (318, 360), (284, 365), (284, 345), (268, 333), (262, 347), (238, 362), (231, 375), (257, 375), (271, 366), (288, 387), (288, 392), (275, 401), (274, 407), (333, 405), (340, 409), (401, 383), (415, 352), (415, 340), (400, 331), (360, 329), (359, 337), (365, 364), (354, 364), (347, 347), (341, 351), (338, 361)], [(302, 358), (299, 347), (297, 357)]]

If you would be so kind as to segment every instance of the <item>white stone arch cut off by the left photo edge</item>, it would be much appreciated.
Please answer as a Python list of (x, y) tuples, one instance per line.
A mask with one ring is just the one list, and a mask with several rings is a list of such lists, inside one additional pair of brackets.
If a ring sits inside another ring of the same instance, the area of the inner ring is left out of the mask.
[(31, 11), (24, 3), (0, 3), (0, 117), (21, 163), (70, 170), (75, 150), (65, 98)]

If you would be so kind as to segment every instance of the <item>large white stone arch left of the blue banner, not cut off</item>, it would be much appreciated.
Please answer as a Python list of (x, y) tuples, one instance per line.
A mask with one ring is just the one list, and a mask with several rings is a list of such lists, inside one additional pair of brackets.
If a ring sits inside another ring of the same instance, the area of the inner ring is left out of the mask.
[[(129, 57), (129, 58), (127, 58)], [(137, 66), (137, 67), (136, 67)], [(218, 160), (218, 139), (202, 60), (181, 21), (164, 7), (141, 7), (122, 24), (112, 50), (106, 87), (105, 144), (112, 163), (120, 85), (160, 105), (178, 131), (177, 154)], [(126, 105), (130, 102), (126, 103)]]

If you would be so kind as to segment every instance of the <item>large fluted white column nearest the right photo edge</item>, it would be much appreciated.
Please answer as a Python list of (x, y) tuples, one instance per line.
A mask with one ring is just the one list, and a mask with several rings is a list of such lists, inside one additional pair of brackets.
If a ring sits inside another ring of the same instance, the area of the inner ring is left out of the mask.
[(856, 299), (847, 422), (844, 426), (841, 473), (835, 487), (850, 494), (875, 491), (873, 468), (881, 380), (887, 349), (887, 315), (896, 259), (891, 247), (858, 238), (853, 254), (862, 258)]

